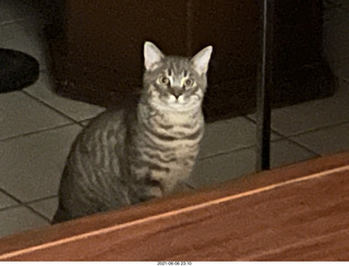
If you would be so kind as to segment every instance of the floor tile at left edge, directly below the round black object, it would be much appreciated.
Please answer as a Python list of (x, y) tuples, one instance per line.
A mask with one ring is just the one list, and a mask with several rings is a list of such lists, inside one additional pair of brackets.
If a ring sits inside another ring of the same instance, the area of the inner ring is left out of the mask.
[(0, 140), (72, 123), (22, 92), (0, 95)]

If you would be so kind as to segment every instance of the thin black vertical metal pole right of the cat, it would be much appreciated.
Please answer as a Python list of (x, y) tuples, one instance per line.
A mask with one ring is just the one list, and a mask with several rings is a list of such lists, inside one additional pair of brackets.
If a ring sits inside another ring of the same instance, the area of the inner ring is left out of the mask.
[(261, 1), (261, 61), (256, 89), (256, 171), (270, 167), (270, 88), (273, 84), (274, 0)]

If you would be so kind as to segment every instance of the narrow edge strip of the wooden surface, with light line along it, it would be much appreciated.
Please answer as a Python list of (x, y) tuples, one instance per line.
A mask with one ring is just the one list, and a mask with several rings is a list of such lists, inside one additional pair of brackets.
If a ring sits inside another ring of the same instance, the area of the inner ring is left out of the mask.
[(0, 239), (0, 261), (16, 259), (40, 249), (89, 238), (100, 233), (122, 230), (140, 222), (164, 216), (176, 216), (181, 211), (195, 210), (224, 201), (253, 196), (268, 190), (296, 182), (305, 182), (327, 174), (349, 170), (349, 152), (318, 157), (287, 167), (250, 174), (237, 180), (156, 200), (139, 206), (97, 214), (89, 217), (31, 230)]

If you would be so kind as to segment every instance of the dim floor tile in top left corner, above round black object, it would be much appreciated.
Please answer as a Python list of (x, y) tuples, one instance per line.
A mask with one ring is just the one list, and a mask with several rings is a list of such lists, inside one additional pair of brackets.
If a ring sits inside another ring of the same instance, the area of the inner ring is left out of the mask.
[(19, 0), (1, 0), (0, 10), (0, 26), (19, 20), (37, 16), (33, 8)]

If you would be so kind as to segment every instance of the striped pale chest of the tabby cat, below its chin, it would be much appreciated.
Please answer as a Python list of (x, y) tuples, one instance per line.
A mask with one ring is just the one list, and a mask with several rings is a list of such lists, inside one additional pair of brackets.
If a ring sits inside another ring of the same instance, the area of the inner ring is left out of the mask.
[(157, 113), (141, 120), (133, 135), (137, 159), (185, 167), (198, 152), (204, 121), (201, 112)]

